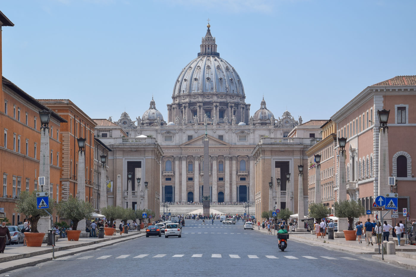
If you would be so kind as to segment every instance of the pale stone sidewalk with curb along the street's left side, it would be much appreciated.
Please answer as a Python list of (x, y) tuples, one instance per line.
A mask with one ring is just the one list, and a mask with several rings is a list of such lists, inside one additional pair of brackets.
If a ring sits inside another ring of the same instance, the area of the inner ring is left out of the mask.
[[(80, 237), (79, 241), (69, 241), (67, 238), (59, 239), (54, 247), (55, 258), (74, 255), (89, 250), (113, 245), (118, 242), (133, 240), (146, 235), (144, 232), (132, 232), (128, 234), (97, 237)], [(4, 254), (0, 256), (0, 273), (8, 272), (22, 267), (37, 265), (40, 262), (52, 260), (52, 246), (42, 244), (42, 247), (10, 247), (6, 245)]]

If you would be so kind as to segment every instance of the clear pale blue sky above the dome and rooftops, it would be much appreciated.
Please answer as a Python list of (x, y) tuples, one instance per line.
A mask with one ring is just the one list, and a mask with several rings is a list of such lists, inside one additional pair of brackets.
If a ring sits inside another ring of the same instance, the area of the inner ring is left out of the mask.
[(20, 0), (0, 10), (3, 76), (92, 118), (156, 107), (196, 57), (207, 18), (218, 52), (275, 117), (328, 119), (365, 87), (416, 74), (416, 1)]

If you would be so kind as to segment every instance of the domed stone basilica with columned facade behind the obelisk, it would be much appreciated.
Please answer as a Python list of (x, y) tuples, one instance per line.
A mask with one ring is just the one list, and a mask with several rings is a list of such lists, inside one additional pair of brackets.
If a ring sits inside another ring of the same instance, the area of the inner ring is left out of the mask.
[[(161, 202), (202, 202), (203, 178), (210, 178), (212, 202), (254, 202), (255, 146), (263, 137), (287, 137), (302, 124), (302, 118), (296, 120), (285, 111), (276, 119), (264, 98), (250, 115), (243, 82), (236, 69), (220, 57), (210, 25), (207, 27), (200, 52), (173, 84), (167, 119), (152, 98), (149, 109), (136, 120), (124, 112), (120, 119), (109, 121), (129, 138), (156, 138), (163, 150), (161, 170), (154, 173), (160, 175)], [(111, 136), (107, 129), (97, 126), (97, 136)], [(209, 176), (203, 174), (206, 133)]]

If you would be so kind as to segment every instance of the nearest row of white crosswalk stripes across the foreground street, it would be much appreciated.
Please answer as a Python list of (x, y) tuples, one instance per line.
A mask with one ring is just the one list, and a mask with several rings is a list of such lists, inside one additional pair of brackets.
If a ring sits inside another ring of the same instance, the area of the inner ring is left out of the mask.
[[(88, 259), (95, 259), (95, 260), (106, 260), (106, 259), (143, 259), (143, 258), (231, 258), (231, 259), (292, 259), (292, 260), (299, 260), (299, 259), (308, 259), (308, 260), (317, 260), (317, 259), (327, 259), (327, 260), (358, 260), (353, 257), (349, 256), (341, 256), (341, 257), (330, 257), (330, 256), (292, 256), (292, 255), (285, 255), (285, 253), (281, 253), (282, 255), (241, 255), (241, 254), (175, 254), (175, 255), (168, 255), (168, 254), (140, 254), (140, 255), (103, 255), (103, 256), (82, 256), (76, 257), (76, 260), (88, 260)], [(58, 260), (68, 260), (70, 257), (62, 257)]]

